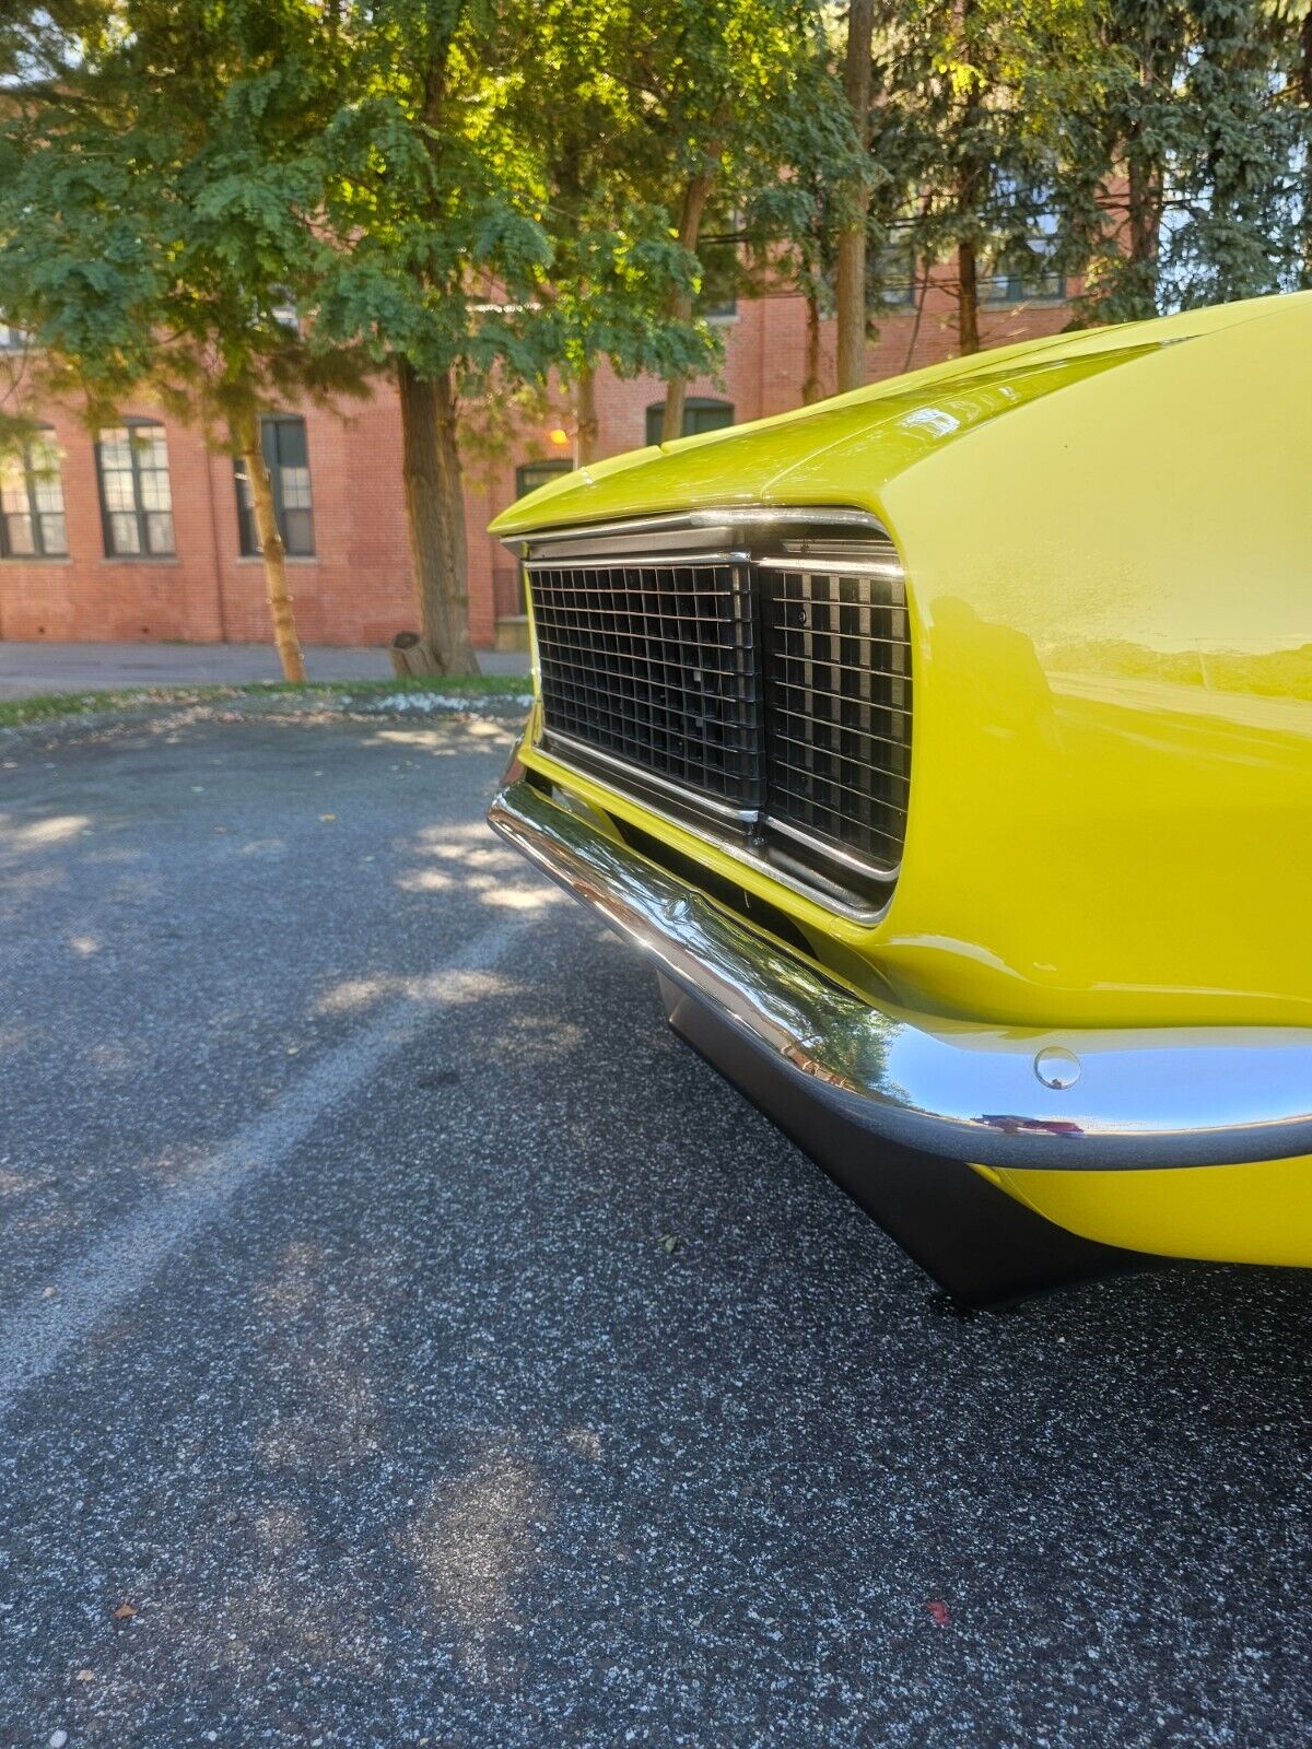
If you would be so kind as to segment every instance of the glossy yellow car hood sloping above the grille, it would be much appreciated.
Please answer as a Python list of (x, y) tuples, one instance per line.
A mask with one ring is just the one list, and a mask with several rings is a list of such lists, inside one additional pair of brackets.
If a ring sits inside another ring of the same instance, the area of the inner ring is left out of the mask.
[(504, 511), (506, 540), (616, 516), (735, 504), (878, 509), (889, 481), (1050, 394), (1240, 322), (1279, 299), (1134, 322), (953, 359), (796, 413), (581, 467)]

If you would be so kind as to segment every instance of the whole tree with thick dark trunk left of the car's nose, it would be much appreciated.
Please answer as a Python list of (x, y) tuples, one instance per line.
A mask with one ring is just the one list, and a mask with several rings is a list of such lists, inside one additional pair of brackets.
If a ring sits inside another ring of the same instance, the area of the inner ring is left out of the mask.
[[(359, 341), (395, 376), (418, 656), (446, 673), (474, 665), (462, 408), (553, 373), (586, 378), (600, 355), (639, 369), (705, 350), (680, 303), (687, 252), (628, 198), (611, 138), (628, 100), (604, 52), (607, 10), (341, 0), (338, 12), (315, 336)], [(602, 136), (579, 163), (584, 115)]]

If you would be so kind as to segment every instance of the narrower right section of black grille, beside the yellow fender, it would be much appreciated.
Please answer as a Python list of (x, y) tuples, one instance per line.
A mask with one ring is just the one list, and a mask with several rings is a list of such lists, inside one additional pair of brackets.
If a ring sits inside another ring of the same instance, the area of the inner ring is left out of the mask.
[(892, 869), (911, 764), (901, 572), (817, 561), (764, 577), (770, 824)]

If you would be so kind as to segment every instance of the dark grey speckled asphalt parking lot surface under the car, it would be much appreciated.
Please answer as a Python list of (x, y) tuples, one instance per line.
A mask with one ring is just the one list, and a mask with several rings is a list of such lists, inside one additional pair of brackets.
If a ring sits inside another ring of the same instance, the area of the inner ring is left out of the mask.
[(945, 1315), (507, 745), (0, 740), (0, 1749), (1307, 1742), (1312, 1279)]

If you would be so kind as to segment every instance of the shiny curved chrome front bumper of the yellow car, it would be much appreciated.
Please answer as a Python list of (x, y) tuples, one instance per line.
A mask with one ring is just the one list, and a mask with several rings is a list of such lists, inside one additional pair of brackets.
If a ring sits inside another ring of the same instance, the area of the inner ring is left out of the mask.
[(873, 1007), (523, 778), (488, 824), (873, 1137), (1018, 1168), (1312, 1154), (1312, 1028), (1037, 1032)]

